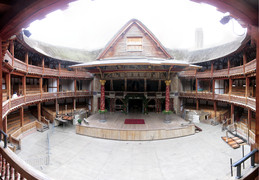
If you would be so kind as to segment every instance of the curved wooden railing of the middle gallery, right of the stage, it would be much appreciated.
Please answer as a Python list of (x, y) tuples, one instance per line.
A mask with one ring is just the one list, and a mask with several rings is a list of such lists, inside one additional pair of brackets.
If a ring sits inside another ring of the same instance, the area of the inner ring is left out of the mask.
[(244, 96), (236, 96), (229, 94), (214, 94), (211, 92), (180, 92), (180, 97), (184, 98), (198, 98), (198, 99), (209, 99), (209, 100), (217, 100), (217, 101), (225, 101), (228, 103), (239, 104), (243, 106), (247, 106), (248, 108), (255, 110), (256, 108), (256, 100), (254, 98), (246, 98)]

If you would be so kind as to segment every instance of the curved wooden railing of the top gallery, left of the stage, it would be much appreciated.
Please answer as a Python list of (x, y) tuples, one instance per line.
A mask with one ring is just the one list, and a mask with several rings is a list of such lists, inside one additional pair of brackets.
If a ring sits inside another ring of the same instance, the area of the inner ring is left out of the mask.
[[(24, 73), (36, 74), (36, 75), (44, 75), (44, 76), (56, 76), (56, 77), (78, 77), (78, 78), (92, 78), (92, 75), (86, 71), (68, 71), (68, 70), (58, 70), (58, 69), (50, 69), (43, 68), (40, 66), (34, 66), (28, 64), (28, 68), (26, 63), (14, 58), (12, 63), (12, 55), (7, 51), (5, 54), (5, 58), (8, 60), (8, 64), (13, 67), (15, 70), (22, 71)], [(44, 69), (44, 70), (43, 70)]]

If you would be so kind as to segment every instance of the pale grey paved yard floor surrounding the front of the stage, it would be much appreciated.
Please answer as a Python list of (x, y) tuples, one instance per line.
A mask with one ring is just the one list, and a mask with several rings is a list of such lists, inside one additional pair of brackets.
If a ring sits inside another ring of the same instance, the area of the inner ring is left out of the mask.
[[(137, 142), (91, 138), (75, 134), (73, 126), (55, 127), (25, 137), (17, 154), (60, 180), (233, 179), (229, 161), (240, 159), (242, 149), (233, 150), (221, 140), (221, 126), (197, 125), (203, 131), (192, 136)], [(50, 164), (44, 165), (47, 134)]]

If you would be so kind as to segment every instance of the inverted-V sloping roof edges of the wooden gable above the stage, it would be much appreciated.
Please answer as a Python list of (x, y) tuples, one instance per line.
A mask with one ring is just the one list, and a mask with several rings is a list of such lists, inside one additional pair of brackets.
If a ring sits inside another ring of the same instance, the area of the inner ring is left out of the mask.
[(136, 24), (141, 30), (143, 30), (143, 32), (145, 32), (147, 34), (147, 36), (150, 37), (150, 39), (152, 39), (155, 44), (157, 45), (157, 47), (160, 48), (160, 50), (165, 54), (165, 56), (168, 59), (173, 59), (173, 57), (167, 52), (166, 48), (161, 44), (161, 42), (155, 37), (155, 35), (139, 20), (137, 19), (131, 19), (129, 22), (127, 22), (120, 30), (119, 32), (111, 39), (110, 42), (108, 42), (108, 44), (106, 45), (106, 47), (103, 49), (103, 51), (99, 54), (99, 56), (97, 57), (97, 60), (103, 59), (103, 57), (105, 56), (105, 54), (108, 52), (108, 50), (113, 47), (116, 42), (118, 41), (118, 39), (126, 33), (126, 31), (128, 29), (130, 29), (134, 24)]

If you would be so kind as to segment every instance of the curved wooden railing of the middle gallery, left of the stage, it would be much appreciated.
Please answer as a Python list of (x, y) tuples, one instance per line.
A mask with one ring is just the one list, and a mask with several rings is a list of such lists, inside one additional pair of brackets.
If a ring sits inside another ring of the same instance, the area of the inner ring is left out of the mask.
[(56, 92), (56, 93), (38, 93), (30, 94), (26, 96), (20, 96), (3, 102), (2, 117), (4, 118), (10, 111), (19, 108), (20, 106), (36, 103), (56, 98), (66, 98), (66, 97), (82, 97), (82, 96), (92, 96), (89, 91), (78, 91), (78, 92)]

